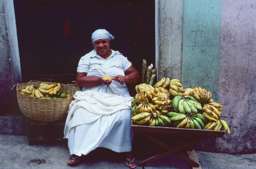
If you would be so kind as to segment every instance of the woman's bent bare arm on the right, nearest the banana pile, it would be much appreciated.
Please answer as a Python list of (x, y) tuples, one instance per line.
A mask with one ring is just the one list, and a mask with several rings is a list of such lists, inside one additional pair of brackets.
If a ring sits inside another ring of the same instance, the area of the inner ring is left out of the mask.
[(124, 74), (125, 76), (121, 76), (121, 75), (115, 76), (113, 80), (120, 83), (136, 83), (140, 78), (140, 74), (134, 66), (130, 66), (124, 72)]

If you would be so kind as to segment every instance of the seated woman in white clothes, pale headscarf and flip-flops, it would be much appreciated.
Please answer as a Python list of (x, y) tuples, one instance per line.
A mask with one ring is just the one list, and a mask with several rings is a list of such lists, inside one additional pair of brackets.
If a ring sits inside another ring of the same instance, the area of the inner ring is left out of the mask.
[[(137, 166), (132, 154), (131, 99), (125, 83), (136, 83), (139, 72), (120, 52), (110, 49), (114, 37), (106, 30), (92, 34), (94, 49), (78, 64), (76, 82), (83, 87), (70, 104), (65, 138), (76, 164), (97, 147), (125, 154), (128, 167)], [(103, 76), (112, 79), (103, 79)]]

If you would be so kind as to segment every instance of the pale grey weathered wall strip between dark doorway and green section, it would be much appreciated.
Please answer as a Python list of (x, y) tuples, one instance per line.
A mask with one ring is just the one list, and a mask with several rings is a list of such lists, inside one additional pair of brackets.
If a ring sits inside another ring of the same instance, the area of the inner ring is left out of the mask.
[(183, 1), (159, 1), (159, 78), (181, 79)]

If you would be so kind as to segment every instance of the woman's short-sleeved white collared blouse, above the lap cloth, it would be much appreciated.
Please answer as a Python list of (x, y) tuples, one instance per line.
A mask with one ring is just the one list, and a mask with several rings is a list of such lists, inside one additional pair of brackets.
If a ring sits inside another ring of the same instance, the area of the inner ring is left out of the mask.
[[(87, 73), (87, 76), (93, 77), (103, 77), (109, 75), (115, 77), (116, 75), (124, 76), (124, 72), (132, 66), (132, 63), (124, 57), (119, 51), (112, 50), (109, 58), (103, 59), (93, 49), (88, 54), (81, 57), (77, 72)], [(100, 93), (117, 94), (121, 96), (130, 96), (129, 91), (125, 83), (119, 83), (115, 80), (112, 81), (111, 85), (108, 87), (105, 85), (98, 85), (94, 87), (84, 87), (82, 91), (91, 90)]]

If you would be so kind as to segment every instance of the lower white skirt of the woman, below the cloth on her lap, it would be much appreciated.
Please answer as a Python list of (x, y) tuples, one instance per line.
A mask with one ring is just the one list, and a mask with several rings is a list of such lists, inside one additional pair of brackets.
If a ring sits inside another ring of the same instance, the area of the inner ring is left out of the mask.
[[(77, 111), (81, 113), (84, 109), (80, 107)], [(131, 110), (117, 111), (102, 116), (93, 123), (73, 127), (67, 138), (70, 154), (78, 156), (87, 155), (97, 147), (115, 152), (130, 152), (133, 140)]]

